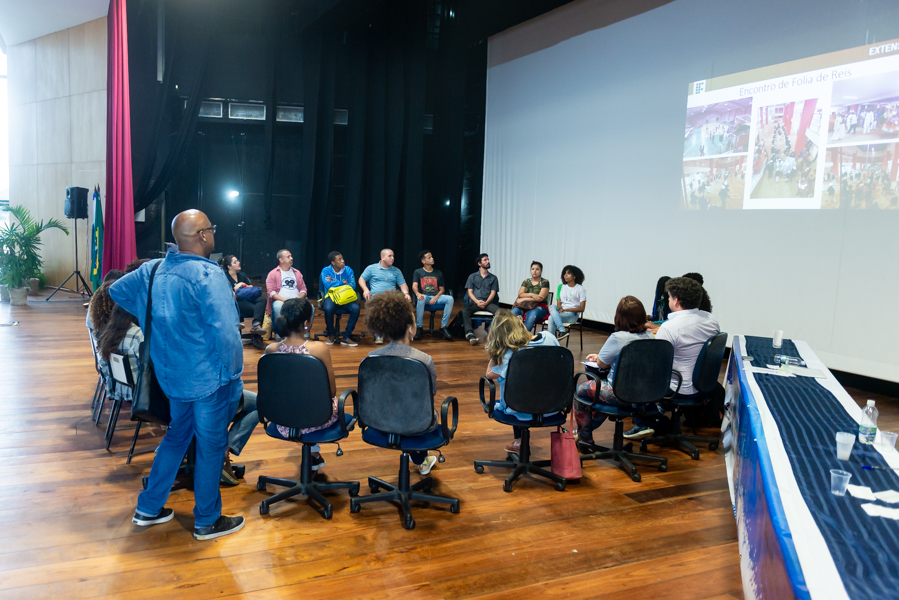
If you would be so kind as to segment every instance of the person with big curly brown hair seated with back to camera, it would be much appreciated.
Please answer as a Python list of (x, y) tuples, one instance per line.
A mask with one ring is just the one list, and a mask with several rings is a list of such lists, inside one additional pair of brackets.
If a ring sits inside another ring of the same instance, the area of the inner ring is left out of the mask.
[[(406, 296), (398, 291), (376, 294), (365, 305), (365, 311), (365, 322), (369, 330), (390, 342), (382, 348), (372, 350), (368, 355), (402, 356), (424, 364), (431, 375), (430, 391), (433, 398), (437, 394), (437, 371), (430, 356), (412, 347), (416, 331), (415, 312)], [(437, 411), (431, 417), (431, 428), (434, 427), (437, 427)], [(424, 451), (409, 452), (409, 458), (422, 475), (430, 473), (437, 464), (437, 458)]]

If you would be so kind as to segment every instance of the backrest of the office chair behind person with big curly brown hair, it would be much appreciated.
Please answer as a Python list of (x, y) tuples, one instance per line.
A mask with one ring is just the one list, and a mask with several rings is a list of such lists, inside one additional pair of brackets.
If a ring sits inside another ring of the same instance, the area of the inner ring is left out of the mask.
[(359, 365), (357, 414), (366, 427), (383, 433), (424, 433), (434, 415), (428, 367), (403, 356), (365, 358)]

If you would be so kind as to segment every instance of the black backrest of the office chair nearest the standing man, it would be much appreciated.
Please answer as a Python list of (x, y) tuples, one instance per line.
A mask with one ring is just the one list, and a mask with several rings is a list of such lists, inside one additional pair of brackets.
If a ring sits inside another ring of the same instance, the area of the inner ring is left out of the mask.
[(265, 354), (259, 359), (259, 417), (290, 429), (331, 418), (331, 382), (325, 363), (309, 354)]

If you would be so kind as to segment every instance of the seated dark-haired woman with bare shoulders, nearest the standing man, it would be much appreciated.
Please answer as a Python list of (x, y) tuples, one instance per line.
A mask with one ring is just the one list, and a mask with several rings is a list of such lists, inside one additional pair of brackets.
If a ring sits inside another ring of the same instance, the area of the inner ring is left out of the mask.
[[(322, 361), (328, 370), (328, 380), (331, 384), (331, 418), (318, 427), (301, 429), (301, 434), (325, 429), (337, 421), (337, 383), (334, 378), (334, 367), (331, 365), (331, 351), (328, 349), (327, 344), (313, 342), (304, 337), (309, 330), (311, 321), (312, 304), (309, 300), (306, 298), (291, 298), (285, 301), (281, 306), (281, 314), (278, 315), (278, 320), (274, 323), (275, 331), (283, 339), (281, 342), (269, 344), (268, 348), (265, 349), (266, 354), (274, 354), (276, 352), (309, 354)], [(297, 385), (302, 385), (302, 382), (297, 382)], [(289, 393), (289, 390), (285, 390), (285, 393)], [(272, 437), (284, 440), (290, 439), (290, 428), (276, 423), (269, 424), (266, 432)], [(325, 460), (321, 457), (319, 451), (320, 448), (317, 445), (312, 447), (313, 471), (317, 471), (325, 464)]]

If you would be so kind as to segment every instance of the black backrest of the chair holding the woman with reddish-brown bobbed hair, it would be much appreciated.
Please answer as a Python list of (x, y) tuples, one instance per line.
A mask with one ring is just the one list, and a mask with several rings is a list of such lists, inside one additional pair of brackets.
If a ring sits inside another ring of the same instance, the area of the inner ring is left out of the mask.
[(658, 402), (670, 391), (674, 346), (667, 340), (634, 340), (615, 362), (612, 390), (622, 402)]

